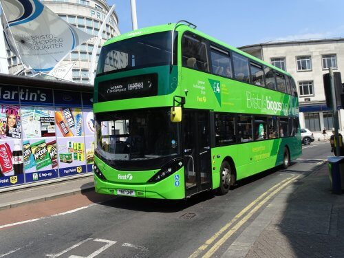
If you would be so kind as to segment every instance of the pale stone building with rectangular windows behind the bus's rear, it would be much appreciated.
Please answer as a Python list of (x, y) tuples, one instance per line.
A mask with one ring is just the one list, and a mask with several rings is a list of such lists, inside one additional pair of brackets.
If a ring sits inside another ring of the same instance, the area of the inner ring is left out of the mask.
[[(297, 84), (300, 124), (316, 134), (334, 127), (332, 109), (326, 106), (323, 74), (333, 67), (344, 72), (344, 39), (285, 41), (239, 47), (276, 67), (289, 72)], [(339, 130), (344, 130), (344, 112), (338, 112)]]

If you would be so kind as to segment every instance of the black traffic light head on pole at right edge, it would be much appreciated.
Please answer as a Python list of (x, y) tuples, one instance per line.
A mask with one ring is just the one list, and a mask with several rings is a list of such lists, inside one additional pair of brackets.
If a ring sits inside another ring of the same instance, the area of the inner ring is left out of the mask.
[[(334, 94), (336, 96), (337, 107), (343, 108), (344, 105), (344, 92), (341, 80), (341, 73), (334, 72)], [(330, 73), (323, 75), (323, 87), (325, 90), (325, 98), (327, 107), (332, 108), (332, 95), (331, 95), (331, 85), (330, 85)]]

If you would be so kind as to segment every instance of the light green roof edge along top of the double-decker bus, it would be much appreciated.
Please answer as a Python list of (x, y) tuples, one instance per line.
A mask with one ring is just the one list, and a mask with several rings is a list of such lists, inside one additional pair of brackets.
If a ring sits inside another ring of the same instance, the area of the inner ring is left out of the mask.
[[(136, 36), (153, 34), (153, 33), (157, 33), (157, 32), (165, 32), (165, 31), (173, 30), (173, 28), (175, 28), (175, 23), (168, 23), (168, 24), (164, 24), (164, 25), (156, 25), (156, 26), (151, 26), (151, 27), (142, 28), (142, 29), (138, 29), (138, 30), (133, 30), (131, 32), (127, 32), (125, 34), (121, 34), (121, 35), (116, 36), (112, 39), (109, 39), (108, 41), (106, 41), (104, 43), (104, 45), (109, 45), (111, 43), (122, 41), (125, 39), (131, 39), (131, 38), (134, 38)], [(250, 54), (247, 54), (246, 52), (237, 49), (236, 47), (228, 45), (227, 43), (224, 43), (223, 41), (219, 41), (218, 39), (213, 38), (213, 36), (209, 36), (203, 32), (200, 32), (200, 30), (195, 30), (195, 29), (189, 27), (188, 25), (186, 25), (184, 23), (179, 23), (177, 25), (177, 27), (175, 28), (175, 31), (177, 31), (177, 32), (186, 32), (186, 31), (193, 32), (199, 36), (202, 36), (204, 39), (208, 39), (210, 41), (213, 41), (214, 43), (217, 43), (218, 45), (222, 45), (223, 47), (226, 47), (227, 49), (232, 50), (233, 52), (237, 52), (239, 54), (242, 54), (243, 56), (250, 58), (252, 61), (256, 61), (257, 63), (260, 63), (262, 65), (266, 65), (270, 68), (275, 69), (277, 72), (291, 76), (288, 72), (286, 72), (282, 69), (279, 69), (278, 67), (275, 67), (273, 65), (270, 65), (270, 63), (266, 63), (265, 61), (262, 61), (261, 59), (255, 57), (255, 56), (251, 56)]]

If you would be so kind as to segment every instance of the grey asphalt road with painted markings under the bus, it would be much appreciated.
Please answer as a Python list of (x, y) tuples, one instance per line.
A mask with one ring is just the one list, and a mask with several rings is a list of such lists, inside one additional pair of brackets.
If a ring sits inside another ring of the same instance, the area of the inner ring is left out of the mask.
[(312, 142), (288, 169), (242, 180), (223, 196), (166, 201), (90, 191), (9, 208), (0, 211), (0, 257), (225, 256), (247, 234), (254, 243), (275, 214), (275, 197), (292, 193), (329, 155), (329, 142)]

